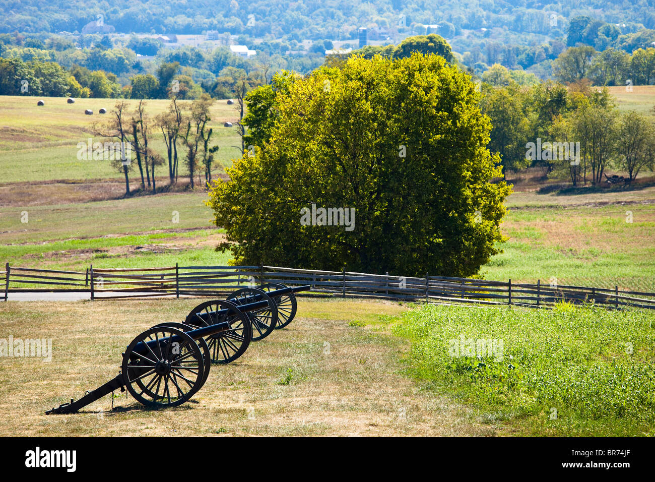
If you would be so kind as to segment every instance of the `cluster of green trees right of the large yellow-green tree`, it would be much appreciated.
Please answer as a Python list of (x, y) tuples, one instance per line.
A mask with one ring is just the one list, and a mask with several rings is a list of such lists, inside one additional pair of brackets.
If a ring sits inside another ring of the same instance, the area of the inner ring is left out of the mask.
[(578, 186), (605, 182), (607, 169), (626, 172), (629, 182), (655, 169), (654, 118), (620, 113), (607, 89), (586, 79), (520, 85), (498, 65), (482, 80), (481, 110), (493, 126), (489, 149), (500, 153), (504, 171), (543, 167)]

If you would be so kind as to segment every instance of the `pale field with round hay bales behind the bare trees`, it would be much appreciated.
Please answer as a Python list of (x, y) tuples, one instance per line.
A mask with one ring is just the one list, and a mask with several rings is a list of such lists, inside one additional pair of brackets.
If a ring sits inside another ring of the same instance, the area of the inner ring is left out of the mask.
[[(54, 179), (97, 179), (120, 178), (122, 174), (111, 167), (109, 161), (84, 161), (77, 158), (79, 142), (88, 138), (103, 142), (93, 135), (94, 123), (106, 123), (112, 115), (116, 99), (77, 99), (67, 104), (65, 98), (43, 98), (45, 106), (37, 106), (36, 97), (0, 96), (0, 182), (43, 181)], [(130, 112), (138, 101), (126, 100)], [(146, 111), (154, 119), (168, 109), (169, 100), (147, 100)], [(183, 108), (189, 108), (191, 101), (183, 100)], [(107, 109), (99, 114), (100, 108)], [(90, 109), (93, 115), (85, 115)], [(231, 159), (240, 157), (240, 140), (236, 127), (223, 127), (225, 121), (236, 122), (238, 113), (225, 100), (217, 100), (212, 108), (210, 127), (214, 128), (212, 141), (219, 146), (215, 154), (215, 173), (223, 172)], [(162, 155), (166, 153), (159, 129), (153, 132), (149, 143)], [(233, 146), (239, 146), (234, 148)], [(185, 149), (179, 144), (181, 162)], [(167, 174), (168, 167), (162, 166), (157, 174)], [(180, 165), (183, 175), (185, 167)], [(132, 178), (136, 180), (138, 169), (132, 167)]]

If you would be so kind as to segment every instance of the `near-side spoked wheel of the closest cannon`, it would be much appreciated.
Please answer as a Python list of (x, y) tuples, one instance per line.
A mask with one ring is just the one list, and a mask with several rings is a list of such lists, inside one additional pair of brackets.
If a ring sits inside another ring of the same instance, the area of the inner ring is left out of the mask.
[[(179, 347), (166, 340), (170, 336), (178, 337)], [(151, 341), (156, 342), (154, 347), (135, 351), (141, 342)], [(153, 327), (134, 338), (123, 353), (121, 369), (128, 392), (148, 407), (185, 403), (200, 390), (204, 378), (200, 347), (191, 336), (170, 327)]]

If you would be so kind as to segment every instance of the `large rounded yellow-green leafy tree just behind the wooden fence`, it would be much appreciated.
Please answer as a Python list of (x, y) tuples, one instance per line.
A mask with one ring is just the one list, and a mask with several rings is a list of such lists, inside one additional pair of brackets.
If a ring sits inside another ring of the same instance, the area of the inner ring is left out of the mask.
[[(510, 193), (470, 77), (441, 56), (349, 58), (278, 90), (271, 139), (210, 192), (236, 263), (468, 276)], [(334, 208), (332, 225), (316, 211)], [(336, 217), (336, 219), (335, 219)], [(339, 225), (341, 221), (341, 225)]]

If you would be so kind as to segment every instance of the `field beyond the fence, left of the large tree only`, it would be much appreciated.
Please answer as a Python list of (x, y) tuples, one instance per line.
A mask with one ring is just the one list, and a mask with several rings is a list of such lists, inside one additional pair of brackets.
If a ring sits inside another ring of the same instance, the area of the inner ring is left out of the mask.
[[(5, 208), (0, 260), (12, 266), (96, 268), (225, 266), (215, 252), (223, 230), (210, 228), (206, 193), (164, 194), (96, 203)], [(23, 223), (27, 212), (28, 222)]]

